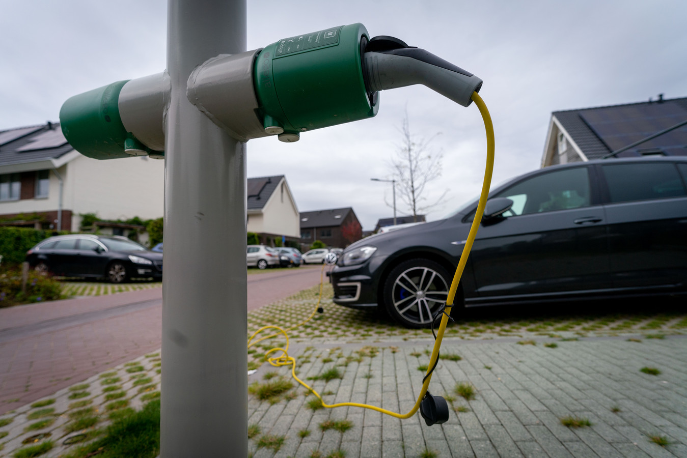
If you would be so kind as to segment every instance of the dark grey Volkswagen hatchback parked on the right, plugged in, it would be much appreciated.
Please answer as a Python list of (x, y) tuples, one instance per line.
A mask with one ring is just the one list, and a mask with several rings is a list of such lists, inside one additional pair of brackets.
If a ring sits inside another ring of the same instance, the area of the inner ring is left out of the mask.
[[(454, 306), (687, 293), (687, 157), (576, 162), (489, 194)], [(447, 298), (477, 201), (350, 245), (336, 304), (426, 327)]]

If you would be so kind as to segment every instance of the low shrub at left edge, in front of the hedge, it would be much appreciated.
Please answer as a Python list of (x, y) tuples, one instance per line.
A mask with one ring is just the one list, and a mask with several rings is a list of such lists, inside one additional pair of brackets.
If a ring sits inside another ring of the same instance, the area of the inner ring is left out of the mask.
[(63, 299), (62, 285), (49, 275), (29, 271), (26, 293), (21, 292), (21, 268), (0, 269), (0, 308)]

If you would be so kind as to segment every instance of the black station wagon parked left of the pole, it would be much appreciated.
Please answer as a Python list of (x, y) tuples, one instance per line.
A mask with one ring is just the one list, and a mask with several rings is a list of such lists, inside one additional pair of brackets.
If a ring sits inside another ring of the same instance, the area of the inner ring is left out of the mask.
[(26, 260), (36, 271), (63, 277), (104, 277), (112, 283), (162, 278), (162, 253), (120, 236), (50, 237), (27, 251)]

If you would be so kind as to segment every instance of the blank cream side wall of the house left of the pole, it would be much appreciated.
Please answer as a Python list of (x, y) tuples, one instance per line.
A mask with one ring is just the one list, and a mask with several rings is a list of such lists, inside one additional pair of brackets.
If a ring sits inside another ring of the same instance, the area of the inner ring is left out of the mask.
[[(80, 156), (67, 168), (63, 208), (74, 211), (74, 230), (82, 213), (97, 213), (104, 220), (134, 216), (145, 220), (164, 214), (162, 160), (131, 157), (99, 161)], [(50, 193), (52, 198), (52, 187)]]

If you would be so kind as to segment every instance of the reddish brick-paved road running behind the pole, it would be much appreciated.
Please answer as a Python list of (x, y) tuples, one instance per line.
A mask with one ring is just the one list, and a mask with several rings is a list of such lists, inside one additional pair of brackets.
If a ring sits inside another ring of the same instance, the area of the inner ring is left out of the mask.
[[(319, 284), (320, 271), (248, 275), (248, 310)], [(159, 350), (161, 317), (161, 288), (0, 308), (0, 415)]]

